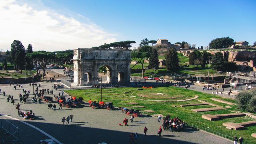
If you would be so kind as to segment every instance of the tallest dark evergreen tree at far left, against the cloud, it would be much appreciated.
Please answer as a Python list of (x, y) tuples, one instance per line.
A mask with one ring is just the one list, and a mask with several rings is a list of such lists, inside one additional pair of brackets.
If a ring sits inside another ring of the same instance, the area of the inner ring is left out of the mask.
[(11, 44), (11, 59), (15, 65), (15, 70), (22, 69), (25, 59), (25, 48), (20, 41), (14, 40)]

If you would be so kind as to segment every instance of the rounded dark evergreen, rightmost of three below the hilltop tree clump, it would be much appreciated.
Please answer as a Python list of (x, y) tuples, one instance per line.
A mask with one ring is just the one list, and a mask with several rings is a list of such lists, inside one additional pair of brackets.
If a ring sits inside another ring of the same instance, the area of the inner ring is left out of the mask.
[(217, 52), (212, 57), (212, 68), (222, 70), (224, 65), (224, 57), (221, 52)]

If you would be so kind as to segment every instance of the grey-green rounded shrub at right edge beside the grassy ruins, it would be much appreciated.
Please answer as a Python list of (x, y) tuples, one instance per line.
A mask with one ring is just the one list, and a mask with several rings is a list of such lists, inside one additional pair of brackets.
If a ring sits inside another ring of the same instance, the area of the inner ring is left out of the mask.
[(256, 90), (240, 92), (236, 96), (236, 105), (243, 110), (256, 112)]

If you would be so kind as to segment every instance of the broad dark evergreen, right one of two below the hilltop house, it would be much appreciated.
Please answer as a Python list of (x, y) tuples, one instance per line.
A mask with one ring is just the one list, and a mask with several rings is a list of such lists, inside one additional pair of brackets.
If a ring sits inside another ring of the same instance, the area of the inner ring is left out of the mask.
[(178, 56), (175, 48), (170, 48), (166, 56), (166, 69), (167, 70), (177, 70), (178, 69)]

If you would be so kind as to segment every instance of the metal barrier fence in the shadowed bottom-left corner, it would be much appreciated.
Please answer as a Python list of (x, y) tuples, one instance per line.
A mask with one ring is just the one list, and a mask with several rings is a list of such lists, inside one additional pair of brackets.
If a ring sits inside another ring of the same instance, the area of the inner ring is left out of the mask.
[(8, 137), (1, 140), (0, 142), (4, 143), (5, 140), (7, 140), (8, 138), (14, 137), (15, 139), (12, 141), (16, 143), (19, 140), (19, 129), (16, 126), (14, 126), (12, 123), (8, 122), (6, 119), (3, 119), (3, 118), (1, 118), (0, 123), (1, 123), (0, 128), (6, 131), (5, 134), (9, 135)]

